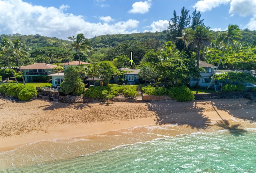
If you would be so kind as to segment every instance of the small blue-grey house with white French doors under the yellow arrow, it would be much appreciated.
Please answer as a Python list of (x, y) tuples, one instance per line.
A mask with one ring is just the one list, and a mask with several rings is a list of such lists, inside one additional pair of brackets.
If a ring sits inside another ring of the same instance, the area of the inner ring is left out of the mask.
[(140, 72), (140, 69), (134, 70), (134, 69), (129, 69), (129, 68), (121, 68), (118, 69), (119, 71), (124, 70), (124, 71), (131, 71), (128, 72), (126, 75), (123, 76), (117, 76), (115, 77), (114, 81), (118, 82), (118, 79), (125, 79), (125, 81), (129, 84), (135, 85), (135, 82), (139, 82), (139, 77), (138, 74)]

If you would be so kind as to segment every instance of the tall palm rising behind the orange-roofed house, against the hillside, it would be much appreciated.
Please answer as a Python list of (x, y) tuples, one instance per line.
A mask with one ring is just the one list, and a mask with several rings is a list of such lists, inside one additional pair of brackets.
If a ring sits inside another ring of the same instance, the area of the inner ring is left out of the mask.
[(70, 50), (74, 50), (75, 52), (78, 53), (78, 59), (79, 59), (79, 62), (78, 62), (78, 65), (80, 65), (80, 51), (84, 54), (84, 51), (88, 51), (90, 52), (89, 50), (92, 50), (91, 48), (91, 43), (89, 42), (88, 39), (86, 39), (84, 37), (83, 34), (77, 34), (77, 36), (72, 36), (72, 37), (67, 37), (68, 39), (70, 39), (72, 41), (72, 43), (70, 45), (67, 45), (65, 46), (64, 49), (67, 49), (69, 48), (69, 51)]

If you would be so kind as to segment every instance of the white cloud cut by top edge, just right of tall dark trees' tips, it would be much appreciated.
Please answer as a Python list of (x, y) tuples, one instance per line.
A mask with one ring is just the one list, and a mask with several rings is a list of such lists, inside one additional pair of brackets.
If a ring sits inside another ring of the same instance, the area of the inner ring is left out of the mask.
[(227, 4), (231, 0), (200, 0), (195, 3), (193, 8), (196, 7), (198, 11), (205, 12), (211, 11), (213, 8), (216, 8), (222, 4)]

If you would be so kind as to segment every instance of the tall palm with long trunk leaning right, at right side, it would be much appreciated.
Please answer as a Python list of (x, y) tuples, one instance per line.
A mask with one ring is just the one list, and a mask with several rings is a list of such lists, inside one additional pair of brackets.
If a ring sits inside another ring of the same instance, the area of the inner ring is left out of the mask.
[(207, 87), (207, 89), (209, 89), (211, 83), (213, 82), (214, 75), (215, 75), (216, 71), (218, 70), (218, 68), (220, 66), (222, 57), (223, 57), (223, 55), (225, 53), (225, 49), (227, 47), (229, 47), (230, 45), (234, 46), (235, 43), (239, 43), (237, 38), (242, 38), (241, 33), (242, 33), (242, 31), (239, 29), (238, 25), (231, 25), (231, 24), (229, 24), (228, 28), (227, 28), (227, 31), (220, 32), (218, 34), (217, 43), (223, 45), (223, 52), (222, 52), (219, 64), (218, 64), (216, 70), (213, 72), (213, 77), (212, 77), (211, 82), (210, 82), (209, 86)]

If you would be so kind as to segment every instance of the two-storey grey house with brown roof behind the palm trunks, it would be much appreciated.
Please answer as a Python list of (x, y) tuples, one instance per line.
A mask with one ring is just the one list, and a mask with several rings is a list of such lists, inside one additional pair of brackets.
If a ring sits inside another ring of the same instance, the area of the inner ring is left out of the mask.
[[(211, 65), (204, 61), (199, 61), (199, 67), (202, 67), (205, 72), (201, 72), (202, 78), (199, 79), (199, 85), (202, 87), (206, 87), (211, 82), (211, 75), (213, 74), (214, 68), (217, 68), (215, 65)], [(195, 86), (197, 84), (197, 78), (190, 78), (190, 86)], [(213, 83), (212, 83), (213, 86)]]

